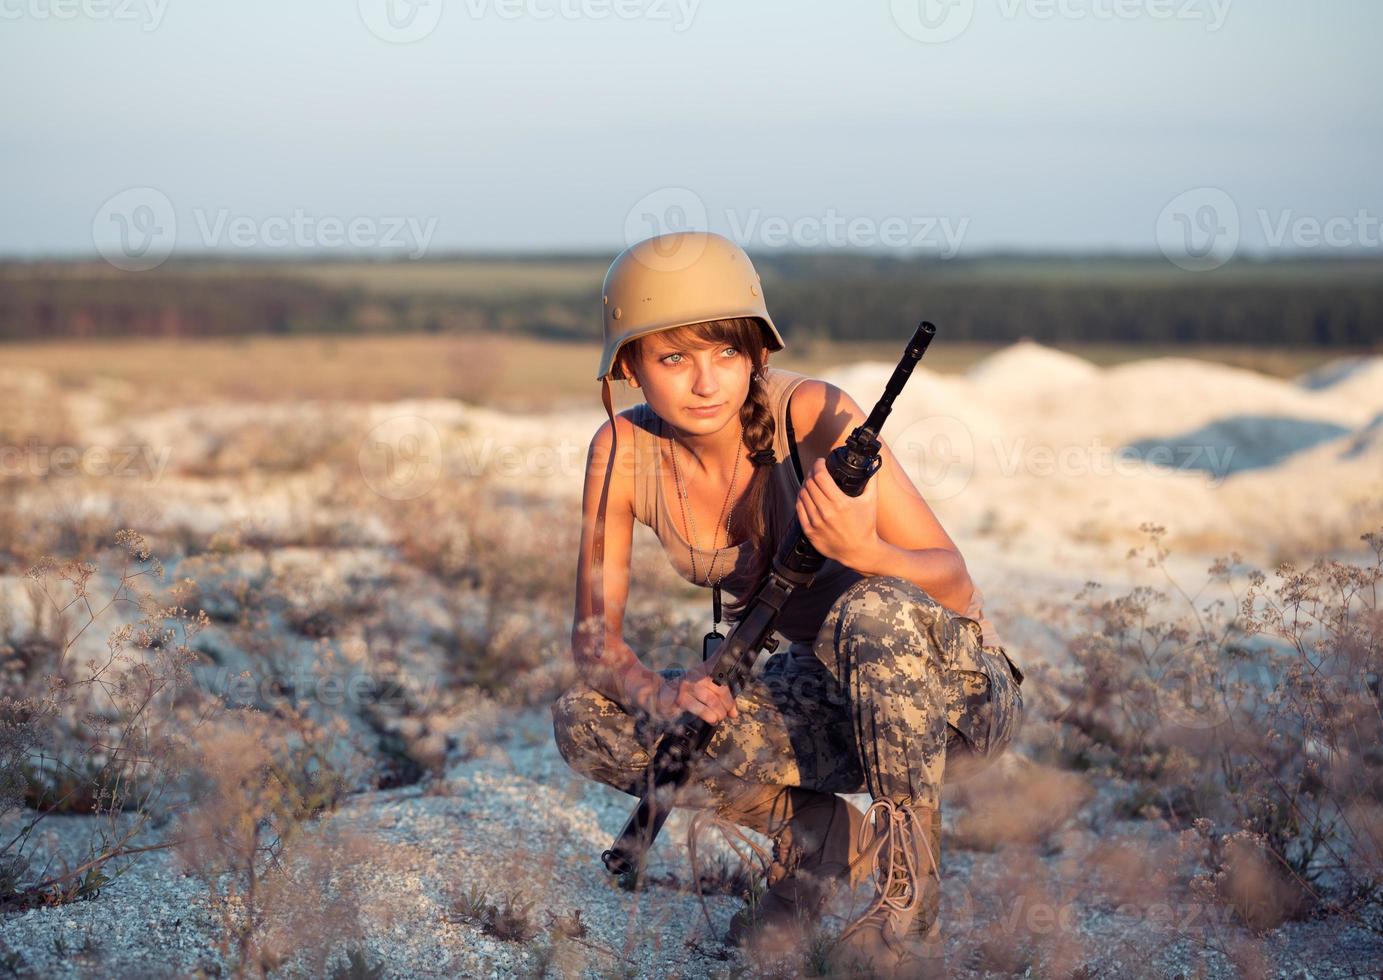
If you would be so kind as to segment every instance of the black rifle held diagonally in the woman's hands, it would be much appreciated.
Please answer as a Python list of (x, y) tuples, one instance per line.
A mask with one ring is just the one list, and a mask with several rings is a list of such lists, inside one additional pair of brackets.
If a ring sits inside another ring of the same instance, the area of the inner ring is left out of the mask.
[[(878, 431), (893, 411), (893, 399), (911, 377), (913, 366), (927, 352), (934, 336), (936, 328), (924, 321), (907, 341), (907, 350), (893, 368), (893, 376), (884, 386), (884, 394), (880, 395), (869, 419), (851, 433), (845, 445), (833, 449), (826, 460), (826, 469), (835, 480), (835, 485), (846, 495), (863, 493), (864, 485), (878, 470), (882, 462)], [(777, 650), (779, 641), (773, 636), (773, 626), (788, 597), (798, 589), (810, 586), (824, 564), (826, 556), (808, 540), (801, 521), (794, 514), (792, 524), (783, 536), (783, 546), (773, 558), (773, 567), (744, 607), (730, 634), (721, 640), (719, 661), (712, 675), (716, 684), (729, 687), (730, 694), (740, 692), (759, 651)], [(636, 784), (646, 786), (639, 806), (635, 807), (610, 850), (600, 856), (611, 875), (625, 875), (642, 868), (643, 856), (672, 813), (672, 798), (692, 778), (693, 767), (705, 756), (705, 746), (711, 742), (714, 731), (714, 724), (686, 712), (662, 735), (642, 782)]]

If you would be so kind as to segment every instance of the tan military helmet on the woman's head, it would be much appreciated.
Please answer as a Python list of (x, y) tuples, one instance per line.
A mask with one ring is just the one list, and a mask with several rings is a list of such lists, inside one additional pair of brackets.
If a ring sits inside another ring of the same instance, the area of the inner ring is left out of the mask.
[(784, 347), (754, 263), (722, 235), (679, 231), (631, 245), (610, 264), (600, 292), (604, 350), (597, 381), (624, 377), (614, 358), (629, 340), (708, 319), (752, 317), (763, 323), (770, 351)]

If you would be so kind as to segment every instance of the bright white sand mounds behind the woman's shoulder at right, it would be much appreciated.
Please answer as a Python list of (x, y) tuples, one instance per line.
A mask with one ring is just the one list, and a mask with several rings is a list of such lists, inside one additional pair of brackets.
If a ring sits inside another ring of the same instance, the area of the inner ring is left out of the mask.
[[(855, 364), (824, 380), (867, 409), (892, 368)], [(1217, 553), (1326, 539), (1353, 527), (1371, 489), (1380, 496), (1373, 415), (1332, 388), (1206, 361), (1101, 370), (1022, 343), (963, 376), (918, 366), (884, 438), (953, 535), (1011, 536), (1010, 560), (1050, 567), (1073, 543), (1135, 543), (1144, 521)], [(1138, 440), (1171, 456), (1127, 458)]]

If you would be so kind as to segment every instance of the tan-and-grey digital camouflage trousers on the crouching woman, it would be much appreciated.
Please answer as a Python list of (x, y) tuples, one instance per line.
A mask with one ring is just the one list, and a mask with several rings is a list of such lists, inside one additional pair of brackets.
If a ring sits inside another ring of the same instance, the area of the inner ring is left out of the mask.
[[(1003, 648), (981, 647), (975, 621), (895, 576), (846, 589), (810, 654), (773, 654), (736, 705), (739, 717), (716, 726), (697, 785), (679, 803), (733, 813), (739, 798), (787, 786), (936, 807), (947, 769), (953, 780), (985, 769), (1022, 720)], [(552, 717), (571, 769), (639, 793), (660, 738), (643, 712), (578, 681)]]

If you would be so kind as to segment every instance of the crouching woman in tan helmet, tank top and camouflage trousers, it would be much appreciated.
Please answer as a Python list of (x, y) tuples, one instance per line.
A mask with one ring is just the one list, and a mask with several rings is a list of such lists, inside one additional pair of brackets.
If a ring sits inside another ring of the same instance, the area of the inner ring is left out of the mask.
[[(732, 941), (801, 925), (827, 883), (873, 872), (874, 901), (841, 950), (892, 972), (911, 933), (938, 955), (943, 769), (956, 778), (989, 764), (1022, 713), (1022, 675), (965, 561), (887, 445), (862, 496), (831, 480), (826, 458), (866, 413), (831, 384), (768, 366), (783, 339), (733, 242), (640, 242), (603, 292), (610, 420), (586, 464), (573, 623), (582, 679), (553, 705), (563, 757), (636, 796), (661, 723), (685, 712), (716, 723), (703, 775), (678, 800), (774, 840), (769, 892), (736, 916)], [(644, 404), (614, 416), (610, 379)], [(739, 698), (711, 680), (714, 658), (646, 668), (622, 636), (633, 521), (683, 578), (740, 599), (726, 605), (733, 619), (794, 513), (828, 561), (779, 618), (788, 650)], [(874, 800), (863, 816), (837, 796), (857, 792)]]

